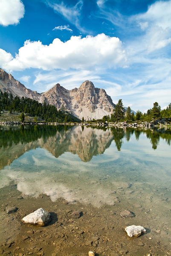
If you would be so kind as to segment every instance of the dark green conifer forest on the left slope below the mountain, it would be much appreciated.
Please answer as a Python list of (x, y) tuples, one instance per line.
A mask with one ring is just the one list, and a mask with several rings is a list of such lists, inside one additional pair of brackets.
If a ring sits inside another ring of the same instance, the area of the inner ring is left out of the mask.
[(46, 122), (58, 121), (58, 123), (61, 123), (64, 122), (64, 120), (71, 122), (80, 122), (78, 118), (68, 112), (65, 112), (64, 106), (62, 106), (61, 109), (57, 110), (55, 106), (46, 104), (45, 102), (41, 104), (38, 101), (32, 100), (30, 98), (22, 97), (20, 99), (18, 96), (13, 97), (12, 94), (0, 92), (0, 112), (6, 110), (9, 111), (9, 113), (27, 113), (31, 116), (39, 117)]

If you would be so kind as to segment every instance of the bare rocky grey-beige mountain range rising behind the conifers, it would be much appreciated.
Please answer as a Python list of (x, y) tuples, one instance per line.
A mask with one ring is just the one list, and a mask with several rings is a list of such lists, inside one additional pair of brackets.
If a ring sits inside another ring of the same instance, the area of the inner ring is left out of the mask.
[(49, 91), (38, 93), (27, 89), (14, 79), (11, 74), (0, 68), (0, 91), (12, 93), (14, 96), (28, 97), (54, 105), (57, 109), (65, 109), (78, 118), (86, 120), (99, 119), (110, 115), (116, 107), (104, 89), (95, 88), (92, 82), (85, 81), (79, 88), (67, 90), (56, 84)]

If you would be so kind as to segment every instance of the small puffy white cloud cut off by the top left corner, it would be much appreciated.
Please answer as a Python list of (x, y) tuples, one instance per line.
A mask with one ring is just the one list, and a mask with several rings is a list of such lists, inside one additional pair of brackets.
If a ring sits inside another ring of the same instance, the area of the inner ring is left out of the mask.
[(21, 0), (0, 0), (0, 25), (18, 24), (24, 16)]

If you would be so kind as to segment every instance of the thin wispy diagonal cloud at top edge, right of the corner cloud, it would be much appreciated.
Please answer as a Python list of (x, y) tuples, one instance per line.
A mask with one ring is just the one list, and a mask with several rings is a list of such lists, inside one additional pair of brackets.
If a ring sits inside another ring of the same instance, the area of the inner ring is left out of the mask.
[(83, 6), (83, 0), (79, 0), (75, 6), (67, 6), (64, 2), (61, 3), (48, 3), (50, 7), (54, 9), (55, 12), (60, 13), (67, 21), (74, 24), (79, 30), (85, 32), (85, 30), (80, 26), (81, 9)]

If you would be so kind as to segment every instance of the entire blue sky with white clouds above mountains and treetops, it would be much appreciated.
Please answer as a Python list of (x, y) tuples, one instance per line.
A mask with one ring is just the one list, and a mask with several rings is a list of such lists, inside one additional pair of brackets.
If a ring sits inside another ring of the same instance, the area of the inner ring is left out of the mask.
[(171, 103), (171, 0), (0, 0), (0, 68), (27, 88), (85, 80), (146, 112)]

